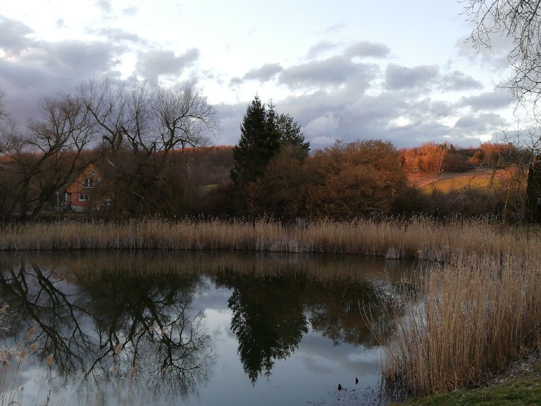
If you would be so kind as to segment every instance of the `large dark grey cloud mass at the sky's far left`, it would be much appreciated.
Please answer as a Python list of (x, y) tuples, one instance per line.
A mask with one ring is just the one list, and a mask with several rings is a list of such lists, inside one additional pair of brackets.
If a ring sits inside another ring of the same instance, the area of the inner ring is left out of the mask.
[(11, 57), (0, 58), (0, 89), (19, 125), (39, 115), (43, 97), (74, 91), (82, 80), (114, 70), (123, 52), (111, 41), (36, 41), (28, 37), (31, 32), (18, 21), (1, 19), (0, 47)]

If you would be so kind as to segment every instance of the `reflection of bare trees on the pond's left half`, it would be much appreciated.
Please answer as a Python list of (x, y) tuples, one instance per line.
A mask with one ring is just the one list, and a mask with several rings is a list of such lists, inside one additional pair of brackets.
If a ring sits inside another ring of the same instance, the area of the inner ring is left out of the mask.
[(213, 350), (202, 315), (190, 309), (199, 277), (59, 274), (24, 263), (0, 273), (0, 296), (10, 303), (1, 324), (15, 342), (36, 326), (31, 343), (42, 358), (53, 353), (65, 376), (105, 382), (129, 373), (161, 395), (206, 382)]

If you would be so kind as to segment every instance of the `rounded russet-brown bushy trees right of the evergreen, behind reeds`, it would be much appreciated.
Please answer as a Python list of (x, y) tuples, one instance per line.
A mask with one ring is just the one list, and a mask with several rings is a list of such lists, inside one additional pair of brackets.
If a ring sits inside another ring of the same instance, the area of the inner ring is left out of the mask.
[(278, 216), (351, 218), (389, 214), (406, 187), (400, 154), (390, 142), (336, 142), (305, 160), (283, 150), (250, 185), (254, 213)]

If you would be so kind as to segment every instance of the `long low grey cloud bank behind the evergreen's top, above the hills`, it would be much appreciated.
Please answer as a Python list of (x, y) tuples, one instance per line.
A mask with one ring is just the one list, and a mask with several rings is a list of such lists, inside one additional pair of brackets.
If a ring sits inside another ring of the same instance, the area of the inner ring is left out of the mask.
[[(439, 86), (440, 76), (430, 75)], [(495, 113), (464, 115), (456, 125), (441, 119), (457, 115), (456, 103), (420, 97), (424, 91), (408, 93), (382, 91), (366, 94), (346, 82), (345, 87), (316, 90), (292, 95), (275, 102), (278, 112), (291, 114), (302, 127), (313, 148), (320, 148), (335, 139), (382, 139), (398, 147), (414, 146), (427, 141), (451, 140), (461, 146), (477, 145), (480, 135), (496, 133), (503, 118)], [(431, 88), (427, 88), (427, 94)], [(239, 137), (239, 124), (248, 101), (217, 106), (221, 120), (220, 142), (234, 144)], [(397, 124), (404, 117), (405, 125)], [(399, 121), (398, 121), (399, 122)]]

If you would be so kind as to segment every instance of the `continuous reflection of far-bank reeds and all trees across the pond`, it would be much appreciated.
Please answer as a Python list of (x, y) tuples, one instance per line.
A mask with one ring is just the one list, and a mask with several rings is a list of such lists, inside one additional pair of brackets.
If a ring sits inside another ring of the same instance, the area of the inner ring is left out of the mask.
[[(11, 305), (5, 323), (19, 338), (38, 325), (41, 356), (54, 352), (65, 374), (78, 371), (99, 381), (114, 366), (124, 374), (135, 368), (161, 393), (186, 394), (210, 374), (210, 338), (202, 315), (190, 309), (201, 274), (232, 290), (230, 327), (253, 383), (291, 356), (309, 329), (334, 345), (370, 347), (375, 340), (364, 310), (386, 323), (382, 306), (390, 285), (380, 283), (381, 261), (215, 252), (28, 258), (25, 263), (39, 265), (11, 262), (0, 279), (2, 299)], [(120, 343), (126, 344), (116, 354)]]

